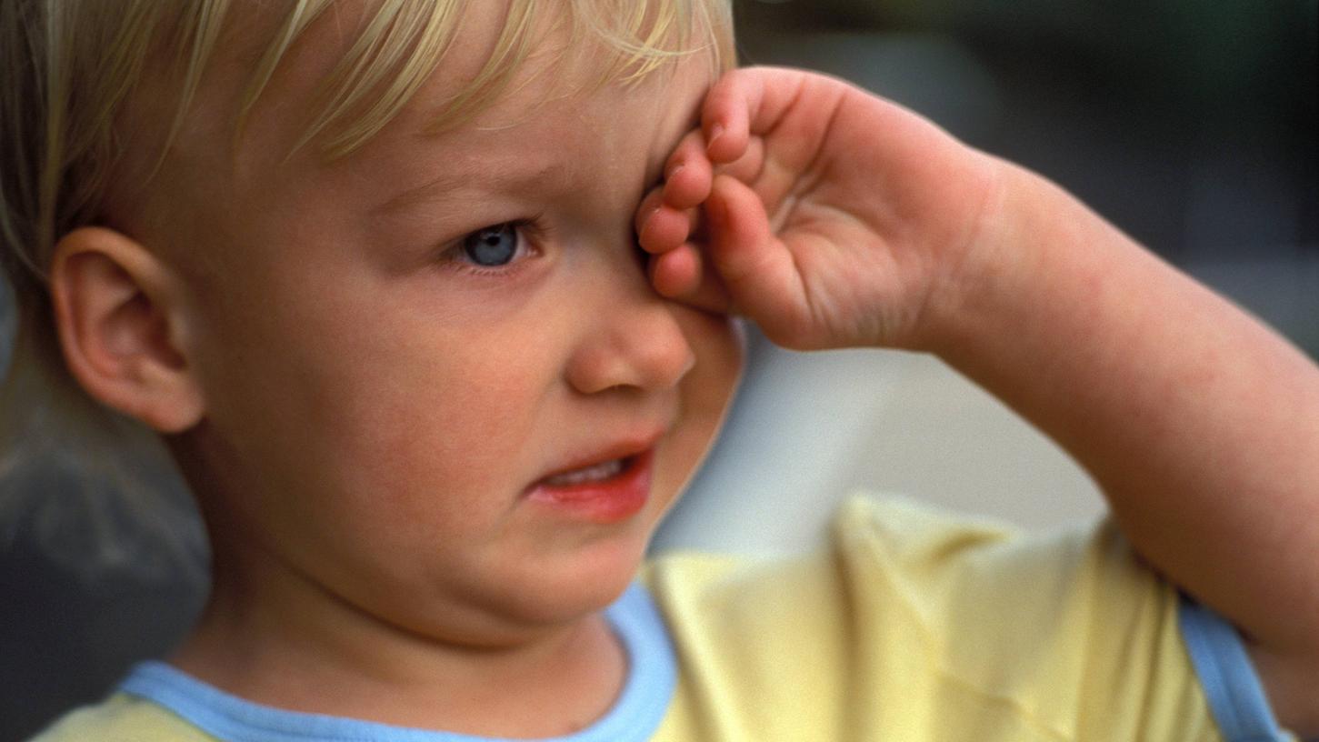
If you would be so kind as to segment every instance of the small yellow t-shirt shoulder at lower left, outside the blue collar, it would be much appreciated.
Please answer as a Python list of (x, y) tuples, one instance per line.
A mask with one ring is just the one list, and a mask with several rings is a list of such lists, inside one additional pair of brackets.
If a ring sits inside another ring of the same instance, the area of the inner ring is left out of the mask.
[(55, 720), (29, 742), (215, 742), (166, 709), (116, 693), (106, 701), (75, 709)]

